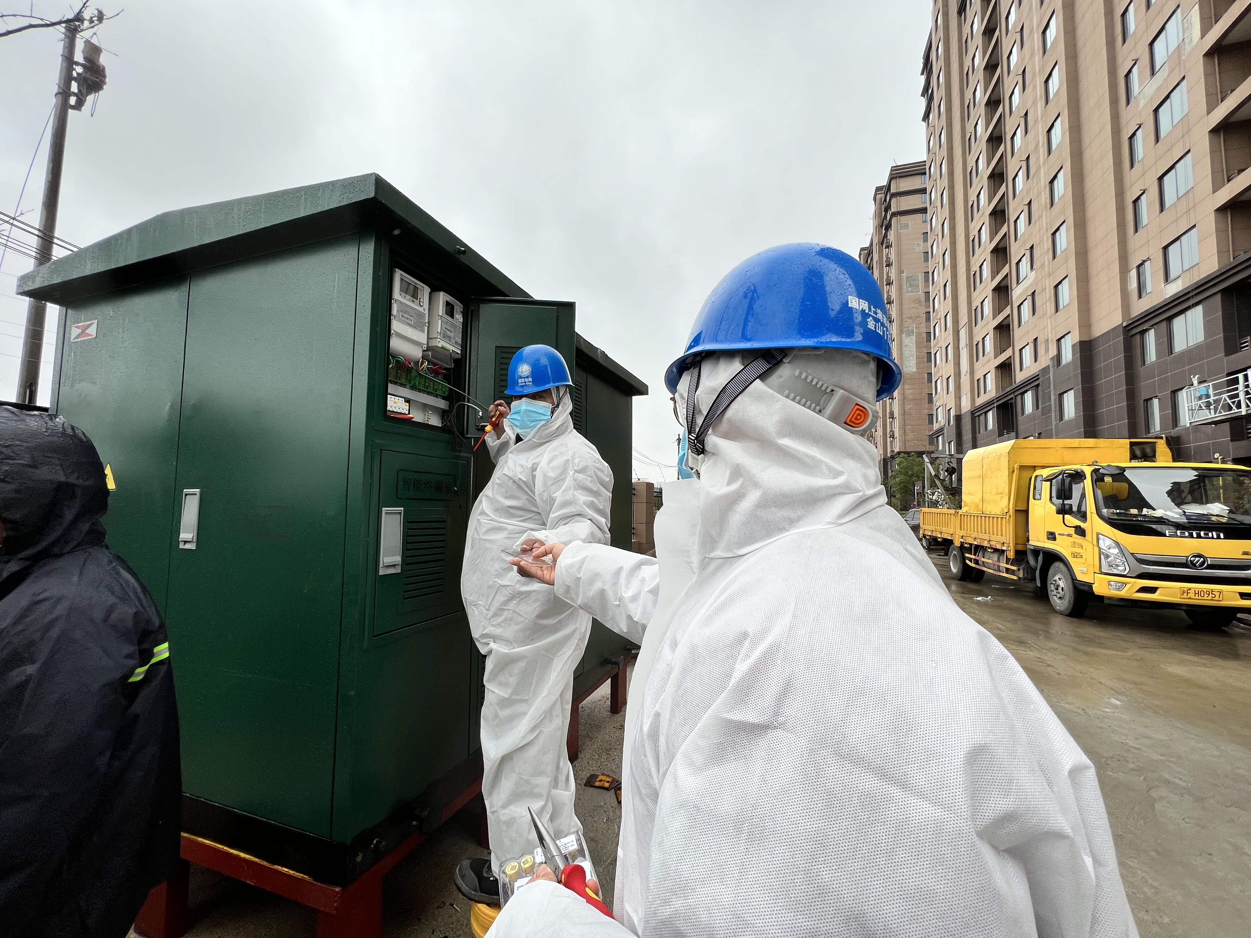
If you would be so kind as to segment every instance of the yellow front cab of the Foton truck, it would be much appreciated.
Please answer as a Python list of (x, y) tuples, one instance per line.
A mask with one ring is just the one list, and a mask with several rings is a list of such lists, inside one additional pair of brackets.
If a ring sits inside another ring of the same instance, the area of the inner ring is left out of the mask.
[(1205, 628), (1251, 609), (1251, 469), (1065, 465), (1031, 477), (1028, 549), (1056, 612), (1092, 595), (1181, 605)]

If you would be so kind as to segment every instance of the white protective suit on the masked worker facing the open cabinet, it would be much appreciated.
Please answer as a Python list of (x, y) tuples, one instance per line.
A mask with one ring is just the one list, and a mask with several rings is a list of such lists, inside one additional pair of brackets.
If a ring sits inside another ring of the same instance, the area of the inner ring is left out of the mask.
[(523, 579), (505, 549), (527, 537), (608, 543), (613, 474), (573, 429), (567, 390), (552, 420), (518, 440), (505, 423), (488, 436), (495, 472), (469, 517), (460, 593), (478, 650), (487, 655), (482, 708), (482, 794), (492, 860), (534, 848), (533, 807), (553, 830), (582, 830), (565, 753), (573, 672), (590, 615)]

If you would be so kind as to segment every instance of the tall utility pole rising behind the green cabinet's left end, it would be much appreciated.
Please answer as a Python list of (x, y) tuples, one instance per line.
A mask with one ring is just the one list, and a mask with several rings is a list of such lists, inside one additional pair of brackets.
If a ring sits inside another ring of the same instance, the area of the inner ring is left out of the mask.
[[(83, 25), (81, 14), (64, 26), (61, 44), (61, 71), (56, 81), (56, 109), (53, 115), (53, 139), (48, 150), (48, 173), (44, 176), (44, 204), (39, 210), (39, 239), (35, 241), (41, 266), (53, 259), (53, 236), (56, 234), (56, 214), (61, 205), (61, 169), (65, 165), (65, 131), (69, 126), (70, 95), (74, 85), (74, 54), (78, 34)], [(18, 400), (34, 404), (39, 396), (39, 368), (44, 359), (44, 324), (48, 304), (30, 300), (26, 306), (26, 334), (21, 341), (21, 364), (18, 370)]]

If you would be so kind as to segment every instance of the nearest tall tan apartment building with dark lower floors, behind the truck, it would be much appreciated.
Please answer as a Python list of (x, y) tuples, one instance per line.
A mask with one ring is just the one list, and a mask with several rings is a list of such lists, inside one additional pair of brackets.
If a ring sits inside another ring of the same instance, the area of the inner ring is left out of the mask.
[(1251, 0), (934, 0), (931, 26), (929, 441), (1251, 464)]

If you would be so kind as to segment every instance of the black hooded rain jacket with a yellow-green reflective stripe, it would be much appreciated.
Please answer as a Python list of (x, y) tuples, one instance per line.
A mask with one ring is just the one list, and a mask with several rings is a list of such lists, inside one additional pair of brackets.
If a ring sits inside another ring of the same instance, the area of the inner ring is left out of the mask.
[(178, 860), (165, 625), (105, 547), (108, 504), (81, 430), (0, 406), (4, 938), (124, 938)]

